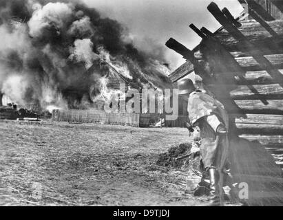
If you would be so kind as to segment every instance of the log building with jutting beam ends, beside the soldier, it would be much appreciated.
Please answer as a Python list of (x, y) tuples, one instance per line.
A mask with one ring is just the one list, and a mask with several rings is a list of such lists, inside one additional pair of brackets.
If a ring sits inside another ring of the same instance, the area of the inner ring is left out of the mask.
[[(202, 38), (192, 51), (174, 39), (167, 41), (167, 47), (187, 60), (169, 77), (174, 83), (193, 72), (202, 78), (197, 86), (211, 91), (229, 113), (231, 138), (239, 143), (231, 149), (238, 160), (235, 176), (258, 184), (251, 192), (253, 199), (282, 201), (278, 166), (283, 168), (283, 21), (278, 19), (283, 1), (239, 2), (248, 7), (249, 14), (236, 19), (227, 8), (208, 5), (222, 27), (212, 33), (191, 24)], [(202, 54), (211, 72), (196, 59), (197, 54)]]

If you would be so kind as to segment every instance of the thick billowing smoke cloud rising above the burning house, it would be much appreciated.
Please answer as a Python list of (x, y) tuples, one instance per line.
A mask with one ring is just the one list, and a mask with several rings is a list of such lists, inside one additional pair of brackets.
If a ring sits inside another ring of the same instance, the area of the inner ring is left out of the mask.
[(139, 87), (171, 87), (154, 43), (140, 52), (123, 25), (78, 1), (2, 0), (0, 34), (0, 89), (14, 102), (85, 107), (109, 70), (100, 58)]

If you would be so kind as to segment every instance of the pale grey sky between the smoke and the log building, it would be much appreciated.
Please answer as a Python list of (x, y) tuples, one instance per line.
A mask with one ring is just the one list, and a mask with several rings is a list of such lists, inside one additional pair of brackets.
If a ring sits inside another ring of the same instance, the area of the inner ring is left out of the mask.
[[(220, 24), (207, 10), (211, 0), (83, 0), (96, 8), (104, 17), (116, 19), (125, 25), (137, 47), (147, 47), (146, 42), (162, 45), (167, 61), (174, 70), (184, 63), (182, 56), (169, 50), (166, 41), (173, 37), (190, 50), (196, 47), (200, 38), (190, 28), (193, 23), (203, 26), (211, 32), (220, 28)], [(238, 17), (243, 8), (238, 0), (214, 0), (220, 9), (226, 7), (234, 17)], [(148, 49), (149, 50), (149, 49)]]

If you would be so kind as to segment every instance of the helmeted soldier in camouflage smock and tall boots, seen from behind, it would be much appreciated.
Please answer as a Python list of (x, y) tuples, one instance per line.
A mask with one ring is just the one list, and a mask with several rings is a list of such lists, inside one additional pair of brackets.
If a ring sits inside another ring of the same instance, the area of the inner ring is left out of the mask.
[(187, 104), (189, 131), (196, 126), (200, 129), (200, 156), (209, 173), (209, 201), (211, 206), (219, 206), (229, 148), (227, 112), (221, 102), (211, 94), (197, 90), (189, 79), (180, 80), (178, 89), (180, 97)]

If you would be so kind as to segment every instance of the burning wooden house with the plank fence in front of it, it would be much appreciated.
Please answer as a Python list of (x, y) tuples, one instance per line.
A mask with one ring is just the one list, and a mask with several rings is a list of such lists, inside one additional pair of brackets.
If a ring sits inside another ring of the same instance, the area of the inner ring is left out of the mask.
[[(111, 92), (118, 92), (121, 89), (121, 85), (125, 86), (125, 91), (128, 89), (137, 89), (140, 95), (140, 108), (141, 104), (141, 85), (134, 82), (130, 78), (127, 78), (123, 74), (121, 74), (116, 67), (114, 67), (111, 63), (107, 63), (105, 60), (99, 60), (94, 62), (94, 65), (87, 70), (84, 77), (89, 77), (94, 75), (94, 73), (101, 73), (98, 77), (99, 80), (103, 81), (103, 87), (96, 87), (97, 91), (101, 92), (101, 90), (106, 89), (105, 91), (107, 95), (111, 94)], [(83, 82), (87, 82), (87, 80), (83, 79)], [(90, 81), (90, 80), (89, 80)], [(93, 81), (93, 80), (92, 80)], [(90, 85), (85, 85), (84, 88), (87, 90), (90, 89)], [(168, 80), (169, 81), (169, 80)], [(67, 94), (76, 93), (76, 96), (73, 97), (81, 97), (83, 94), (87, 94), (87, 90), (79, 90), (81, 92), (78, 93), (78, 89), (74, 89), (74, 87), (69, 87), (66, 91)], [(103, 96), (103, 93), (101, 93)], [(127, 97), (125, 102), (130, 99)], [(96, 104), (95, 108), (90, 109), (69, 109), (69, 110), (54, 110), (52, 112), (52, 120), (56, 121), (67, 121), (67, 122), (86, 122), (86, 123), (101, 123), (101, 124), (120, 124), (120, 125), (130, 125), (130, 126), (149, 126), (149, 124), (154, 124), (159, 120), (159, 114), (157, 113), (106, 113), (104, 111), (105, 98), (101, 97), (101, 99), (97, 99), (94, 101)], [(120, 106), (120, 100), (118, 101), (118, 108)], [(119, 109), (118, 109), (119, 110)], [(141, 112), (141, 110), (140, 110)]]

